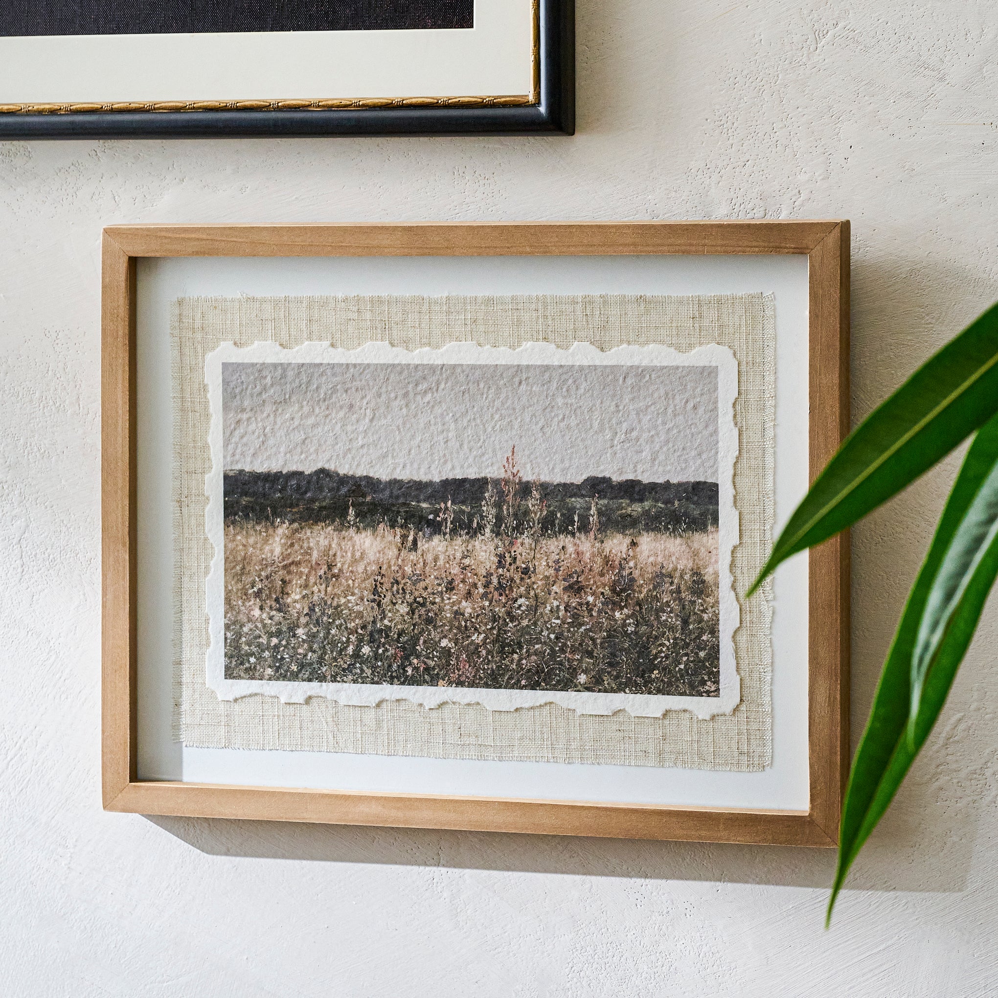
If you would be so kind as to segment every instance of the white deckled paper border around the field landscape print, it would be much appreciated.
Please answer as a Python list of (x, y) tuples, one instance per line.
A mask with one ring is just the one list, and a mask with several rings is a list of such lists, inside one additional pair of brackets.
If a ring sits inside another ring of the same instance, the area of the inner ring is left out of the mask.
[[(620, 693), (584, 693), (551, 690), (481, 690), (465, 687), (376, 686), (363, 683), (293, 683), (226, 678), (225, 655), (225, 494), (223, 457), (222, 365), (224, 363), (390, 363), (390, 364), (544, 364), (563, 366), (696, 366), (718, 372), (718, 474), (719, 474), (719, 598), (721, 629), (721, 690), (718, 697), (638, 696)], [(598, 350), (588, 343), (559, 349), (550, 343), (525, 343), (517, 349), (449, 343), (440, 349), (405, 350), (385, 342), (366, 343), (344, 350), (328, 343), (306, 342), (286, 348), (278, 343), (236, 346), (222, 343), (205, 360), (212, 413), (209, 434), (212, 466), (206, 476), (208, 495), (206, 528), (214, 556), (206, 583), (211, 643), (206, 653), (208, 686), (222, 700), (238, 700), (253, 694), (278, 697), (284, 704), (303, 704), (324, 697), (341, 705), (377, 707), (389, 700), (404, 700), (425, 708), (442, 704), (477, 704), (489, 711), (557, 704), (579, 714), (612, 715), (626, 711), (635, 717), (661, 718), (667, 711), (691, 711), (699, 718), (729, 714), (739, 704), (739, 675), (735, 665), (733, 635), (739, 625), (739, 604), (732, 583), (732, 553), (738, 544), (739, 521), (735, 510), (735, 462), (739, 451), (735, 403), (738, 399), (738, 363), (727, 346), (699, 346), (680, 353), (670, 346), (617, 346)]]

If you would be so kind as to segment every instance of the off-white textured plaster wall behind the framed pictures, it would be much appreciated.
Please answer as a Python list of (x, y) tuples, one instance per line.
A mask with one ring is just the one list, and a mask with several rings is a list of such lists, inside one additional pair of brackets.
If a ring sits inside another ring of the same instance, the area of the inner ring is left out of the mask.
[[(102, 226), (848, 217), (857, 416), (998, 297), (991, 4), (579, 7), (574, 139), (0, 144), (4, 994), (995, 993), (994, 605), (829, 934), (826, 852), (99, 808)], [(951, 471), (856, 532), (857, 730)]]

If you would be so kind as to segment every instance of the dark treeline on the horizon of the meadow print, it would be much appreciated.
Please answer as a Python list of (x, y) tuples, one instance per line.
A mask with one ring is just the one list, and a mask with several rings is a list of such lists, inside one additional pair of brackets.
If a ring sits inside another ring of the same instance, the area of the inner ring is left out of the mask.
[[(532, 488), (530, 482), (518, 487), (514, 516), (524, 523)], [(682, 534), (718, 524), (716, 482), (615, 481), (593, 476), (582, 482), (539, 482), (537, 493), (545, 503), (544, 535), (589, 531), (594, 499), (600, 534)], [(490, 502), (495, 516), (491, 526), (499, 530), (505, 508), (499, 478), (382, 479), (326, 468), (225, 473), (227, 520), (349, 523), (361, 529), (387, 522), (391, 527), (412, 527), (424, 536), (445, 530), (482, 533)], [(441, 519), (441, 504), (447, 503), (449, 512)]]

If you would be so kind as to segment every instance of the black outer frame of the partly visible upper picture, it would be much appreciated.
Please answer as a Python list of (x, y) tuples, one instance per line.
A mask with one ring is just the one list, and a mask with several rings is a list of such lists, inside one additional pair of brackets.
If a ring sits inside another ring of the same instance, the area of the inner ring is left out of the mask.
[(519, 107), (0, 114), (8, 139), (245, 139), (334, 135), (573, 135), (575, 0), (539, 0), (540, 100)]

